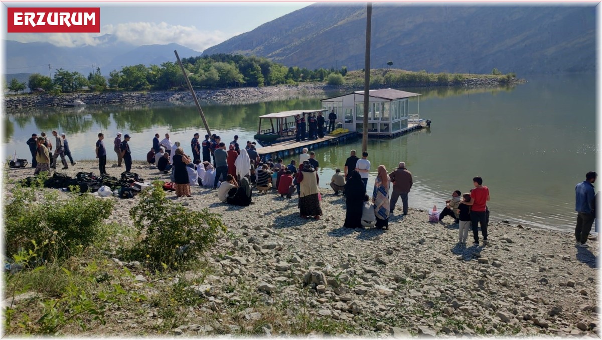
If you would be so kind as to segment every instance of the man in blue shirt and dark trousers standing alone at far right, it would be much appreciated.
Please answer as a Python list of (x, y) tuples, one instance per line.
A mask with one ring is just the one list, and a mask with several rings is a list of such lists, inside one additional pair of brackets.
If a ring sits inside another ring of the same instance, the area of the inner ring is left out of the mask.
[(576, 245), (583, 248), (589, 248), (588, 241), (589, 232), (594, 224), (596, 217), (594, 212), (594, 182), (598, 174), (590, 171), (585, 174), (585, 181), (575, 186), (575, 211), (577, 211), (577, 225), (575, 226)]

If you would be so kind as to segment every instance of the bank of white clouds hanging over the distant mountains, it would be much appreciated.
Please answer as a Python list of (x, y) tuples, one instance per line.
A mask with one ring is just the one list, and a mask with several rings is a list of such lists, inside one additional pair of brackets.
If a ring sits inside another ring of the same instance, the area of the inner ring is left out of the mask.
[(135, 46), (177, 43), (200, 52), (233, 36), (217, 30), (200, 31), (194, 26), (171, 25), (165, 22), (129, 22), (117, 25), (105, 25), (101, 28), (101, 34), (7, 34), (7, 38), (22, 43), (48, 41), (48, 43), (56, 46), (75, 47), (86, 44), (96, 45), (99, 41), (95, 40), (94, 37), (104, 34), (113, 34), (117, 38), (117, 41), (130, 43)]

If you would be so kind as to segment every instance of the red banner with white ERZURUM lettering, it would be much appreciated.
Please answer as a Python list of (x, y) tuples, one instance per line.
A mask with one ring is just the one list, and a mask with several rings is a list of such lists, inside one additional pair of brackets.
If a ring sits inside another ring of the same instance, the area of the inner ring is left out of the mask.
[(99, 7), (8, 7), (8, 33), (100, 33)]

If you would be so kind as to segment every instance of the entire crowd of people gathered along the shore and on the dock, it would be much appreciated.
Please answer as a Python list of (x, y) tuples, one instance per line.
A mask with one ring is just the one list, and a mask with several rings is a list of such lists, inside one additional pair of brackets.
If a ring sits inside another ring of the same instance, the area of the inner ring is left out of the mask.
[[(329, 117), (329, 120), (331, 118)], [(334, 118), (336, 119), (336, 116)], [(310, 115), (309, 123), (310, 138), (316, 135), (319, 137), (324, 123), (321, 113), (318, 117)], [(58, 157), (61, 158), (62, 169), (69, 168), (67, 157), (71, 165), (76, 164), (69, 150), (65, 133), (59, 134), (53, 130), (52, 136), (54, 136), (54, 145), (44, 132), (40, 133), (40, 136), (33, 133), (26, 141), (31, 151), (31, 166), (35, 168), (34, 175), (41, 172), (49, 173), (51, 169), (56, 169)], [(178, 197), (191, 196), (190, 186), (205, 186), (217, 190), (221, 202), (246, 206), (252, 204), (252, 188), (255, 187), (262, 195), (275, 191), (281, 195), (281, 198), (287, 199), (292, 198), (296, 192), (299, 196), (299, 213), (303, 218), (320, 219), (323, 214), (320, 206), (321, 196), (318, 192), (320, 165), (315, 159), (314, 151), (310, 152), (307, 148), (303, 148), (299, 155), (299, 168), (297, 168), (296, 159), (291, 159), (286, 165), (283, 159), (273, 163), (272, 159), (267, 157), (260, 158), (254, 142), (247, 141), (246, 146), (240, 148), (238, 136), (234, 136), (234, 140), (226, 147), (220, 136), (205, 135), (205, 140), (200, 142), (199, 133), (195, 133), (190, 141), (191, 156), (184, 152), (180, 142), (172, 144), (169, 133), (165, 134), (163, 140), (160, 141), (159, 138), (160, 135), (157, 133), (152, 141), (151, 151), (147, 154), (147, 162), (149, 165), (156, 166), (164, 174), (171, 173)], [(305, 138), (303, 133), (299, 138), (300, 140)], [(117, 154), (116, 166), (122, 167), (123, 163), (126, 171), (130, 171), (132, 167), (129, 140), (127, 134), (123, 135), (122, 140), (120, 132), (117, 132), (113, 140), (113, 148)], [(107, 149), (104, 145), (103, 133), (98, 134), (95, 154), (100, 174), (107, 175), (105, 168)], [(334, 195), (339, 195), (340, 192), (344, 195), (346, 204), (344, 226), (347, 228), (388, 229), (389, 216), (394, 214), (399, 198), (402, 199), (402, 214), (408, 214), (408, 194), (414, 182), (405, 162), (399, 162), (398, 167), (391, 172), (387, 171), (385, 165), (377, 167), (371, 197), (367, 195), (370, 169), (368, 153), (364, 152), (361, 158), (358, 158), (356, 151), (351, 150), (344, 164), (344, 171), (337, 168), (330, 178), (329, 185), (334, 190)], [(594, 193), (593, 183), (596, 178), (595, 172), (588, 172), (586, 180), (576, 186), (575, 237), (576, 245), (580, 247), (589, 247), (586, 241), (595, 220), (597, 195)], [(489, 189), (483, 186), (483, 180), (478, 176), (473, 178), (473, 186), (473, 189), (467, 193), (462, 193), (460, 190), (452, 192), (452, 198), (445, 201), (445, 208), (439, 213), (439, 221), (450, 216), (454, 219), (454, 223), (459, 225), (458, 241), (461, 244), (467, 242), (470, 229), (473, 231), (473, 244), (479, 244), (479, 226), (483, 244), (488, 241)]]

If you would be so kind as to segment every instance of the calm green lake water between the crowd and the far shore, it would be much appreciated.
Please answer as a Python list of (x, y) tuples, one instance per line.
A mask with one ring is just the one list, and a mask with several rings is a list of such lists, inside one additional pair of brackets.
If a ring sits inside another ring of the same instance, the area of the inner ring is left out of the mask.
[[(573, 229), (574, 186), (595, 169), (595, 77), (527, 80), (511, 89), (403, 89), (423, 94), (420, 114), (433, 121), (432, 127), (396, 139), (369, 141), (373, 170), (369, 185), (379, 164), (390, 170), (403, 160), (414, 175), (411, 207), (427, 209), (436, 204), (441, 209), (453, 190), (467, 192), (472, 178), (480, 175), (491, 193), (492, 218)], [(212, 133), (225, 142), (238, 135), (244, 145), (255, 135), (259, 115), (319, 108), (321, 97), (248, 105), (205, 103), (203, 112)], [(50, 135), (53, 129), (67, 134), (75, 159), (94, 158), (98, 132), (105, 133), (109, 148), (117, 131), (129, 133), (132, 155), (140, 160), (146, 158), (155, 133), (169, 132), (187, 153), (193, 134), (205, 135), (194, 105), (38, 108), (8, 111), (3, 119), (5, 155), (16, 151), (28, 159), (25, 141), (31, 133)], [(321, 186), (326, 186), (335, 168), (343, 168), (351, 149), (361, 150), (361, 139), (316, 150)], [(108, 158), (111, 164), (116, 156), (110, 151)]]

